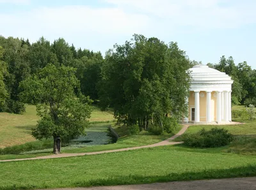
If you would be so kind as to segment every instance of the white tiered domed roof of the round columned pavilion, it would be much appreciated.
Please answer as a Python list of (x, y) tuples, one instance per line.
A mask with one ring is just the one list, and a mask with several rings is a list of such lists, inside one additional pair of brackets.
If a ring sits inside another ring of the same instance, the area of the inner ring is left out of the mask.
[(205, 86), (211, 86), (215, 90), (218, 86), (231, 88), (231, 84), (233, 83), (231, 77), (225, 74), (225, 72), (209, 68), (207, 65), (195, 65), (189, 68), (189, 74), (191, 76), (192, 90), (195, 87), (205, 88)]

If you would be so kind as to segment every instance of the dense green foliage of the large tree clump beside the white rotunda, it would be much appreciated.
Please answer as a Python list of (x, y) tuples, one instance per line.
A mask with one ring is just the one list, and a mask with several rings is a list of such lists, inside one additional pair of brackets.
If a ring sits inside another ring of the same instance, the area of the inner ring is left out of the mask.
[(163, 116), (181, 118), (189, 90), (189, 60), (176, 43), (134, 35), (106, 54), (98, 84), (100, 106), (113, 107), (118, 122), (163, 125)]

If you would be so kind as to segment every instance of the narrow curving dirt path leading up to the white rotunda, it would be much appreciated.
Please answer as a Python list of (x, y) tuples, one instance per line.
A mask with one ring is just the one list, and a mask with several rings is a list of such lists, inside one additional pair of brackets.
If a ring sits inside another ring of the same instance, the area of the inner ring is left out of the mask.
[(11, 162), (11, 161), (28, 161), (28, 160), (36, 160), (36, 159), (53, 159), (53, 158), (60, 158), (60, 157), (74, 157), (74, 156), (81, 156), (81, 155), (93, 155), (93, 154), (104, 154), (104, 153), (109, 153), (109, 152), (121, 152), (121, 151), (126, 151), (126, 150), (136, 150), (140, 148), (149, 148), (149, 147), (156, 147), (156, 146), (165, 146), (165, 145), (176, 145), (180, 144), (182, 142), (170, 142), (173, 139), (177, 138), (178, 136), (182, 135), (187, 129), (189, 125), (183, 125), (182, 129), (172, 136), (171, 138), (168, 138), (164, 141), (161, 141), (156, 144), (152, 145), (145, 145), (145, 146), (135, 146), (131, 148), (121, 148), (121, 149), (116, 149), (116, 150), (104, 150), (104, 151), (99, 151), (99, 152), (86, 152), (86, 153), (64, 153), (64, 154), (52, 154), (52, 155), (45, 155), (41, 157), (32, 157), (32, 158), (25, 158), (25, 159), (10, 159), (10, 160), (2, 160), (0, 162)]

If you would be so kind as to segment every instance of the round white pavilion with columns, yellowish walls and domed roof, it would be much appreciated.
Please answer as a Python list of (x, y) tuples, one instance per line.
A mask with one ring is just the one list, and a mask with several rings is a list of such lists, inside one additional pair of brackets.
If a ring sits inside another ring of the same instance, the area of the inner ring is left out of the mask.
[(207, 65), (195, 65), (189, 72), (191, 86), (185, 122), (231, 122), (231, 77)]

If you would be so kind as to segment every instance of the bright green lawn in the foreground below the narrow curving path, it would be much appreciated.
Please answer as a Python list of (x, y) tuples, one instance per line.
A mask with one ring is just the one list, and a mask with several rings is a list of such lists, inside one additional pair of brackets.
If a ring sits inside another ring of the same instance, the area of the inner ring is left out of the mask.
[(0, 162), (0, 168), (0, 189), (40, 189), (256, 176), (256, 157), (162, 146), (61, 159)]

